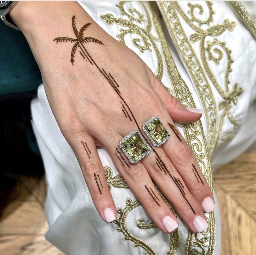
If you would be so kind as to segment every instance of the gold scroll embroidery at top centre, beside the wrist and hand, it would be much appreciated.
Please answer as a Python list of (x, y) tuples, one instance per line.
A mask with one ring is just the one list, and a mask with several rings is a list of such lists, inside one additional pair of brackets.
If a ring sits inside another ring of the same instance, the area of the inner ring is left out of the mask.
[[(121, 28), (120, 34), (117, 34), (116, 37), (119, 39), (119, 42), (122, 42), (125, 45), (125, 40), (124, 37), (126, 34), (137, 34), (140, 36), (140, 38), (133, 38), (132, 42), (134, 44), (135, 47), (137, 47), (142, 53), (145, 52), (146, 50), (148, 50), (149, 52), (152, 52), (152, 48), (155, 50), (156, 52), (156, 56), (157, 56), (157, 62), (158, 62), (158, 66), (157, 66), (157, 78), (158, 79), (162, 79), (163, 76), (163, 63), (162, 63), (162, 58), (161, 58), (161, 54), (155, 44), (155, 41), (158, 42), (159, 40), (152, 34), (150, 33), (152, 24), (151, 24), (151, 20), (147, 11), (147, 8), (145, 7), (145, 5), (142, 3), (142, 7), (146, 13), (146, 19), (145, 16), (141, 13), (139, 13), (137, 10), (135, 10), (134, 8), (129, 9), (129, 12), (132, 15), (129, 15), (125, 10), (124, 10), (124, 4), (127, 1), (119, 1), (119, 4), (116, 5), (120, 12), (127, 16), (127, 19), (124, 18), (115, 18), (112, 14), (106, 14), (106, 15), (101, 15), (100, 17), (106, 21), (107, 24), (109, 25), (113, 25), (114, 23), (121, 25), (123, 27), (126, 27), (127, 29), (123, 29)], [(134, 17), (133, 14), (137, 14), (137, 18)], [(132, 21), (138, 21), (139, 23), (145, 25), (144, 27), (138, 26), (134, 23), (132, 23)], [(143, 44), (139, 44), (140, 42), (143, 42)]]

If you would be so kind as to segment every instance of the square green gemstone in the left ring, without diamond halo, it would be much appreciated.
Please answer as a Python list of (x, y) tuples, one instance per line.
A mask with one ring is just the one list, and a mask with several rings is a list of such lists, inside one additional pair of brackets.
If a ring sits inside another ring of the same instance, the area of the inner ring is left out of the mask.
[(129, 153), (133, 161), (137, 161), (141, 156), (148, 152), (148, 147), (141, 139), (139, 134), (135, 133), (123, 141), (123, 146)]

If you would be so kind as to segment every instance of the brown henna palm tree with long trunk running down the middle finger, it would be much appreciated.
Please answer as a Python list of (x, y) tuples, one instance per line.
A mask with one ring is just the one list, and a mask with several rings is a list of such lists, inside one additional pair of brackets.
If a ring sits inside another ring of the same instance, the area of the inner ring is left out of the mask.
[[(80, 54), (83, 56), (84, 59), (87, 59), (91, 65), (95, 65), (96, 68), (99, 70), (99, 72), (105, 77), (105, 79), (108, 81), (108, 83), (111, 85), (111, 87), (115, 90), (115, 92), (117, 93), (117, 95), (120, 97), (120, 99), (123, 102), (123, 105), (125, 106), (125, 109), (127, 108), (127, 113), (129, 112), (131, 114), (131, 118), (134, 120), (138, 130), (140, 131), (140, 133), (142, 134), (143, 138), (147, 141), (147, 143), (149, 144), (149, 146), (152, 148), (152, 150), (154, 151), (154, 153), (156, 154), (156, 157), (158, 158), (159, 162), (161, 163), (160, 165), (163, 167), (164, 169), (164, 173), (165, 174), (169, 174), (169, 176), (171, 177), (172, 181), (176, 184), (177, 188), (180, 190), (179, 185), (176, 183), (176, 181), (174, 180), (173, 176), (171, 175), (171, 173), (169, 172), (169, 170), (167, 169), (167, 167), (165, 166), (164, 162), (162, 161), (161, 157), (158, 155), (158, 153), (156, 152), (156, 150), (153, 148), (153, 146), (151, 145), (151, 143), (149, 142), (149, 140), (147, 139), (147, 137), (145, 137), (145, 135), (143, 134), (140, 125), (138, 124), (136, 118), (133, 115), (133, 112), (131, 110), (131, 108), (129, 107), (129, 105), (126, 103), (125, 99), (121, 96), (121, 92), (118, 89), (119, 85), (116, 83), (115, 79), (113, 78), (113, 76), (108, 72), (103, 69), (100, 68), (96, 62), (94, 61), (94, 59), (92, 58), (92, 56), (89, 54), (89, 52), (87, 51), (87, 49), (85, 48), (84, 44), (88, 43), (88, 42), (95, 42), (98, 43), (100, 45), (103, 45), (103, 42), (101, 42), (98, 39), (92, 38), (92, 37), (84, 37), (84, 31), (91, 25), (91, 23), (87, 23), (85, 24), (80, 31), (78, 32), (77, 28), (76, 28), (76, 23), (75, 23), (75, 16), (72, 17), (72, 28), (73, 31), (76, 35), (76, 39), (73, 38), (69, 38), (69, 37), (58, 37), (55, 38), (53, 41), (56, 41), (56, 43), (58, 42), (76, 42), (73, 45), (72, 51), (71, 51), (71, 63), (72, 65), (74, 65), (75, 60), (75, 53), (77, 48), (79, 47), (80, 49)], [(118, 154), (121, 156), (121, 153), (119, 153), (118, 149), (116, 148)], [(123, 156), (121, 156), (122, 158)], [(124, 160), (125, 164), (131, 168), (126, 161)], [(191, 204), (189, 203), (189, 201), (187, 200), (187, 198), (185, 197), (185, 195), (183, 194), (183, 192), (180, 190), (181, 194), (183, 195), (183, 197), (185, 198), (185, 200), (187, 201), (188, 205), (191, 207), (192, 211), (195, 213), (194, 209), (192, 208)]]

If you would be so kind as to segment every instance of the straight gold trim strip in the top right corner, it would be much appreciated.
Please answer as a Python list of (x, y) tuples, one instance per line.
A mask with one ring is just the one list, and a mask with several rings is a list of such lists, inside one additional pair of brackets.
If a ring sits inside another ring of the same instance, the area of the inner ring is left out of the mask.
[(240, 1), (230, 1), (231, 5), (235, 9), (236, 13), (241, 17), (243, 23), (249, 29), (254, 39), (256, 40), (256, 23), (255, 20), (248, 13), (246, 8), (242, 5)]

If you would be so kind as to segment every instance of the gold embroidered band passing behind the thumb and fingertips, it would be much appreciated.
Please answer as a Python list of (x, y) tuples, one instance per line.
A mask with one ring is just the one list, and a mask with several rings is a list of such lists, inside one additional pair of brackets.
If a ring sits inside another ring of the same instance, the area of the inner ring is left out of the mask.
[[(168, 2), (171, 5), (171, 2)], [(163, 2), (158, 1), (158, 5), (160, 6), (160, 9), (162, 10), (162, 14), (165, 18), (165, 21), (167, 21), (168, 14), (171, 14), (171, 17), (173, 19), (173, 22), (177, 22), (176, 17), (174, 17), (172, 14), (165, 11)], [(153, 10), (153, 17), (156, 17), (156, 10), (153, 5), (153, 3), (150, 3), (152, 10)], [(175, 23), (175, 29), (177, 31), (178, 23)], [(168, 46), (166, 44), (166, 40), (164, 38), (161, 24), (157, 19), (154, 19), (154, 25), (156, 28), (156, 31), (158, 33), (159, 39), (162, 43), (162, 50), (163, 55), (165, 58), (165, 64), (166, 69), (168, 70), (168, 74), (170, 77), (170, 80), (172, 81), (172, 86), (174, 90), (174, 96), (178, 98), (182, 102), (186, 102), (185, 104), (190, 107), (195, 107), (195, 103), (193, 101), (193, 98), (191, 96), (191, 93), (189, 92), (189, 89), (185, 82), (180, 77), (180, 74), (178, 73), (177, 67), (173, 61), (173, 58), (169, 52)], [(180, 34), (179, 34), (180, 35)], [(183, 130), (185, 133), (185, 138), (188, 143), (188, 145), (192, 148), (195, 157), (200, 165), (200, 168), (205, 176), (205, 179), (209, 183), (209, 186), (211, 190), (213, 191), (213, 185), (212, 185), (212, 171), (211, 171), (211, 163), (210, 163), (210, 157), (208, 154), (207, 144), (205, 137), (203, 135), (203, 128), (201, 121), (197, 121), (192, 124), (185, 124), (183, 125)], [(205, 151), (205, 154), (203, 153)], [(195, 234), (192, 231), (189, 231), (187, 243), (186, 243), (186, 254), (213, 254), (214, 253), (214, 247), (215, 247), (215, 219), (214, 219), (214, 213), (211, 212), (209, 215), (209, 227), (207, 231), (203, 232), (202, 234)], [(197, 249), (197, 248), (203, 247), (204, 250)]]

